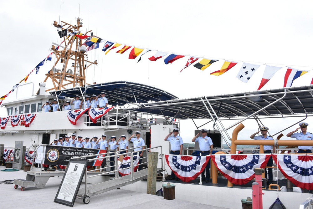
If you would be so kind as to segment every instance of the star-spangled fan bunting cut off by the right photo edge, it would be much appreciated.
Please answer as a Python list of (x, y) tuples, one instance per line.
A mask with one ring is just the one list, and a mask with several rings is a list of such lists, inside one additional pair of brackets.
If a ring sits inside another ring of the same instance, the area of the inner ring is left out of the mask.
[(281, 173), (295, 186), (313, 190), (312, 155), (274, 155), (272, 157)]

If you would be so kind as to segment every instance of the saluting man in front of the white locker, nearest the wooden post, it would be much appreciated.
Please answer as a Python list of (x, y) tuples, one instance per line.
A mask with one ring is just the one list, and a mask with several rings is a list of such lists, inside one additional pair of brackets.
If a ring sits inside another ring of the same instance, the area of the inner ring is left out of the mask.
[[(182, 145), (184, 142), (182, 141), (182, 137), (178, 136), (178, 132), (179, 129), (173, 128), (173, 131), (164, 138), (164, 141), (169, 141), (171, 144), (171, 155), (182, 155)], [(173, 136), (170, 137), (172, 134)], [(179, 180), (179, 178), (177, 178), (177, 176), (175, 176), (174, 172), (172, 171), (170, 180), (174, 179), (175, 181)]]

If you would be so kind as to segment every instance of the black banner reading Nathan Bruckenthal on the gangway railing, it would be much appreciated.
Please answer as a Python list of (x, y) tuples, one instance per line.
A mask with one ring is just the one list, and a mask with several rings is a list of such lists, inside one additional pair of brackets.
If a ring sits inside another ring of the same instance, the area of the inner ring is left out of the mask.
[[(69, 160), (73, 157), (83, 157), (81, 160), (88, 160), (96, 158), (89, 155), (101, 154), (102, 150), (78, 148), (78, 147), (66, 147), (66, 146), (53, 146), (47, 145), (45, 151), (44, 164), (46, 165), (68, 165)], [(93, 166), (93, 161), (88, 162), (88, 166)], [(106, 160), (103, 159), (101, 166), (105, 166)]]

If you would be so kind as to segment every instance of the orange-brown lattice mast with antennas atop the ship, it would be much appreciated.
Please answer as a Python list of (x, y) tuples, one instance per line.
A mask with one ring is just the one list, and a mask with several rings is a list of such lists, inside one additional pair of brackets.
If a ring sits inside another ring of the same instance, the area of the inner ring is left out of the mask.
[[(90, 65), (95, 64), (97, 65), (97, 60), (91, 62), (87, 60), (87, 53), (86, 47), (82, 46), (82, 39), (78, 38), (74, 35), (69, 34), (80, 34), (86, 35), (87, 33), (91, 32), (87, 31), (85, 34), (80, 32), (80, 28), (83, 27), (83, 23), (80, 22), (81, 18), (76, 18), (77, 24), (71, 25), (69, 23), (65, 23), (61, 21), (62, 26), (54, 21), (53, 26), (58, 28), (58, 31), (65, 30), (67, 28), (67, 35), (63, 36), (64, 39), (61, 45), (53, 43), (51, 50), (56, 56), (56, 61), (52, 69), (46, 74), (47, 79), (51, 79), (54, 88), (46, 89), (46, 91), (51, 90), (61, 90), (68, 88), (69, 85), (73, 85), (74, 87), (85, 86), (86, 85), (86, 69), (90, 67)], [(91, 33), (91, 37), (93, 38)], [(99, 37), (97, 37), (99, 38)], [(61, 63), (63, 64), (62, 69), (56, 69), (55, 66)]]

